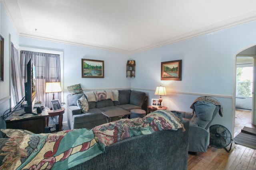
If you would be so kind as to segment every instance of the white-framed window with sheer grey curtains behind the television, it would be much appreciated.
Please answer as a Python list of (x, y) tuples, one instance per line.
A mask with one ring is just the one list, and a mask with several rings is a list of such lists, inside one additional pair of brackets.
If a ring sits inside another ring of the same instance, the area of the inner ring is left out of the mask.
[[(60, 81), (63, 86), (63, 81), (61, 81), (63, 80), (63, 52), (22, 48), (21, 62), (25, 56), (33, 58), (36, 67), (36, 100), (40, 100), (50, 107), (52, 94), (45, 93), (45, 84), (46, 82)], [(22, 63), (27, 62), (23, 61)], [(63, 101), (61, 93), (56, 94), (55, 97)]]

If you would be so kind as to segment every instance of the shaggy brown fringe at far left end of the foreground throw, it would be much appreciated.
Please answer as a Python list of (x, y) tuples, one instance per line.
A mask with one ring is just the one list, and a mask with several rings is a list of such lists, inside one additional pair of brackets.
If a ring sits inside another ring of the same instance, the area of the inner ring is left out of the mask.
[(27, 156), (26, 149), (19, 149), (19, 145), (22, 142), (24, 134), (18, 134), (16, 137), (12, 137), (5, 143), (2, 152), (0, 155), (5, 156), (3, 159), (3, 164), (0, 166), (0, 169), (14, 169), (13, 163), (17, 160)]

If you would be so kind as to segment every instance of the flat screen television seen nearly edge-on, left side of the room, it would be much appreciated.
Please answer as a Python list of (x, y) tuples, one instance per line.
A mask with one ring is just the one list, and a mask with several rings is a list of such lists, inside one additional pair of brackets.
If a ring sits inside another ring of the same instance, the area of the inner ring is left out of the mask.
[(25, 89), (25, 101), (27, 104), (24, 106), (24, 111), (26, 113), (32, 113), (34, 104), (36, 101), (36, 72), (35, 67), (31, 59), (27, 64), (27, 82), (24, 84)]

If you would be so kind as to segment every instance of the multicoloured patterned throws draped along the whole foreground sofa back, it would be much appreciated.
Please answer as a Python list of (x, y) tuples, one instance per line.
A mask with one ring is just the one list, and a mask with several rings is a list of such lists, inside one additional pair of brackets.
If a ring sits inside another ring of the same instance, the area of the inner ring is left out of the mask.
[(22, 134), (10, 138), (2, 150), (5, 162), (0, 169), (68, 169), (104, 152), (104, 147), (137, 135), (183, 128), (178, 117), (166, 110), (144, 118), (121, 119), (88, 129), (58, 133)]

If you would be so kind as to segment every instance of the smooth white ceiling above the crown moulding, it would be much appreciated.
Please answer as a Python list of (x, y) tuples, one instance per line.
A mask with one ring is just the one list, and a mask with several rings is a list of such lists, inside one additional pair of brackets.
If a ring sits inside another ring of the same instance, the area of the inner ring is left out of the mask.
[(1, 0), (19, 36), (138, 53), (256, 20), (255, 0)]

